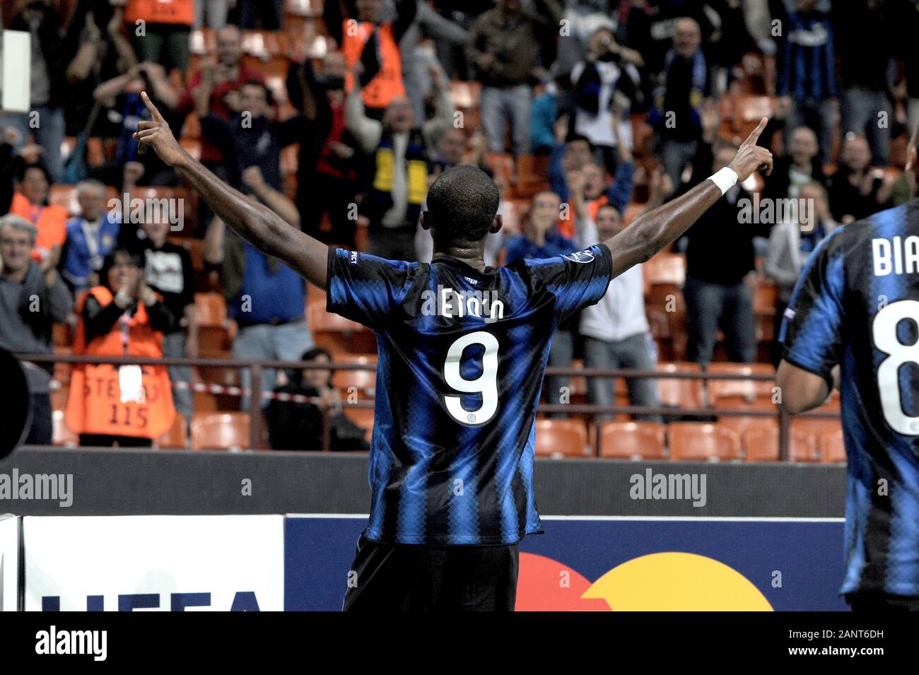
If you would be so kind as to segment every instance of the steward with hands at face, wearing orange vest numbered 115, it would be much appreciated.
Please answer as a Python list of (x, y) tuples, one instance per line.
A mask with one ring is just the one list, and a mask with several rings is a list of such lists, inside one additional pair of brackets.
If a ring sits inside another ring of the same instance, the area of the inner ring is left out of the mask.
[[(105, 285), (77, 303), (74, 354), (163, 357), (163, 333), (176, 319), (143, 283), (139, 263), (124, 249), (108, 254)], [(81, 445), (149, 446), (175, 417), (166, 366), (74, 366), (64, 419)]]

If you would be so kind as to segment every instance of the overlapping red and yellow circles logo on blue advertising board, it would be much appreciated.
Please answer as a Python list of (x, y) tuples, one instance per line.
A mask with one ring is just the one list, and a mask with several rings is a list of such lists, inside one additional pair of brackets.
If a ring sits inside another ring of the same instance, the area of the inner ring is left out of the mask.
[(550, 557), (520, 554), (518, 612), (771, 612), (736, 569), (694, 553), (632, 558), (591, 583)]

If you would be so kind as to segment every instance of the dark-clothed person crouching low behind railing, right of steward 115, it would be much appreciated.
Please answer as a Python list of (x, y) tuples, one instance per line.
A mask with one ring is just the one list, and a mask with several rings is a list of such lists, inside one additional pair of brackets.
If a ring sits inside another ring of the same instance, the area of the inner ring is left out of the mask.
[[(304, 352), (301, 361), (310, 364), (332, 362), (332, 354), (321, 347)], [(290, 377), (288, 384), (275, 389), (286, 400), (271, 400), (265, 411), (268, 438), (273, 450), (322, 450), (323, 411), (328, 416), (329, 449), (367, 451), (364, 430), (342, 412), (342, 399), (332, 386), (332, 371), (304, 368)], [(302, 396), (313, 401), (290, 398)]]

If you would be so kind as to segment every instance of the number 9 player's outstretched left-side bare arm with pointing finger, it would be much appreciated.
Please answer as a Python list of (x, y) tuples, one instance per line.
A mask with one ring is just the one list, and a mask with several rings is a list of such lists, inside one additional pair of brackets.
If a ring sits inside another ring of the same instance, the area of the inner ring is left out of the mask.
[(214, 213), (258, 250), (274, 255), (312, 284), (324, 289), (328, 247), (210, 173), (178, 144), (146, 92), (141, 96), (153, 120), (142, 121), (137, 126), (134, 138), (140, 147), (153, 148), (161, 160), (175, 167), (208, 202)]

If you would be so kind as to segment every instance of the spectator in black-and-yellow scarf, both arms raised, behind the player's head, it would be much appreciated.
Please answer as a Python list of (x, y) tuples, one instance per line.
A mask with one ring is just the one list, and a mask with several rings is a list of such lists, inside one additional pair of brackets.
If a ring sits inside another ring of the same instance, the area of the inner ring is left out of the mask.
[(347, 96), (346, 128), (364, 152), (374, 153), (376, 167), (361, 215), (369, 219), (369, 253), (391, 260), (416, 258), (414, 237), (430, 177), (429, 158), (453, 123), (453, 99), (444, 73), (432, 79), (437, 92), (434, 118), (415, 126), (405, 96), (391, 100), (382, 122), (369, 118), (355, 88)]

